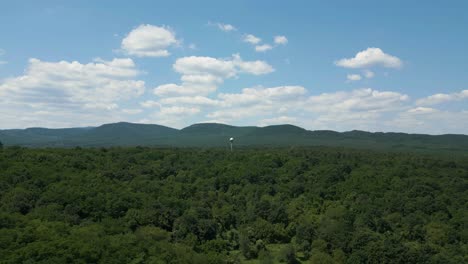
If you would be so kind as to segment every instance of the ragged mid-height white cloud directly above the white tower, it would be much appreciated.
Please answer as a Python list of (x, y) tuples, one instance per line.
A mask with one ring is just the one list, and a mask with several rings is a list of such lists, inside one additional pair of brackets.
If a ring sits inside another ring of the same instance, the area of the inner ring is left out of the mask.
[(162, 97), (203, 96), (216, 91), (225, 79), (237, 77), (238, 74), (262, 75), (274, 71), (264, 61), (244, 61), (238, 54), (229, 59), (183, 57), (176, 60), (173, 68), (181, 74), (182, 83), (159, 85), (154, 89), (154, 94)]

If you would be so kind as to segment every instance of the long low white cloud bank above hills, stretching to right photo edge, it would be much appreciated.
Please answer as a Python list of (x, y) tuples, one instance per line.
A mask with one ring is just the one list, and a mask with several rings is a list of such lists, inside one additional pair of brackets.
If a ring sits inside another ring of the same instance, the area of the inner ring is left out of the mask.
[[(303, 87), (245, 88), (218, 95), (208, 120), (229, 124), (293, 123), (308, 129), (466, 133), (468, 112), (414, 107), (408, 95), (370, 88), (308, 95)], [(442, 125), (440, 125), (442, 124)]]

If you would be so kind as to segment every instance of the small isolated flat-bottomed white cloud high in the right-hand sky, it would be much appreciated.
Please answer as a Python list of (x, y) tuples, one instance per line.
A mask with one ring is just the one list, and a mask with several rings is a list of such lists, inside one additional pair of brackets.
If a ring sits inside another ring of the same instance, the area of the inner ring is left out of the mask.
[(379, 48), (368, 48), (360, 51), (354, 58), (341, 59), (335, 62), (337, 66), (344, 68), (369, 68), (382, 66), (385, 68), (400, 68), (403, 62), (395, 56), (384, 53)]

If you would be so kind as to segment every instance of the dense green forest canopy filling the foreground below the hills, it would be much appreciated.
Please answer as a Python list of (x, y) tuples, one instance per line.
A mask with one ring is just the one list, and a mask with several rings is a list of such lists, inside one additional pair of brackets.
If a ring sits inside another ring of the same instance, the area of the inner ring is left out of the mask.
[(468, 159), (0, 149), (0, 263), (468, 263)]

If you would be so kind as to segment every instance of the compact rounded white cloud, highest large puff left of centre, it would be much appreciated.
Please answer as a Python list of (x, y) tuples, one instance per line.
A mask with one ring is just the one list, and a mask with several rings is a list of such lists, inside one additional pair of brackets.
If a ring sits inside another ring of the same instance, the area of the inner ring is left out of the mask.
[(168, 27), (140, 25), (122, 40), (121, 48), (138, 57), (166, 57), (169, 47), (177, 45), (175, 33)]

